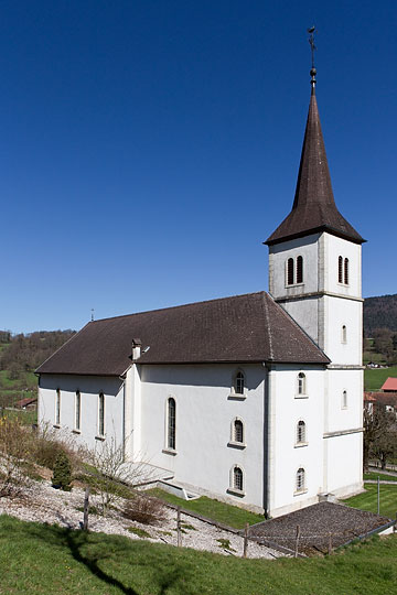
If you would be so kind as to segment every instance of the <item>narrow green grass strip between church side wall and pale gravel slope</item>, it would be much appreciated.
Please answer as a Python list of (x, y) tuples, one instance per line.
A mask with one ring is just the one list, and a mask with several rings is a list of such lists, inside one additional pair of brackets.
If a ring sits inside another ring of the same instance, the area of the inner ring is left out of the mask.
[(235, 529), (244, 529), (246, 522), (255, 524), (256, 522), (265, 520), (262, 515), (255, 515), (254, 512), (248, 512), (237, 506), (219, 502), (218, 500), (213, 500), (205, 496), (201, 496), (196, 500), (183, 500), (182, 498), (178, 498), (176, 496), (158, 488), (151, 489), (150, 494), (165, 502), (180, 506), (186, 510), (192, 510), (193, 512), (203, 515), (203, 517), (234, 527)]

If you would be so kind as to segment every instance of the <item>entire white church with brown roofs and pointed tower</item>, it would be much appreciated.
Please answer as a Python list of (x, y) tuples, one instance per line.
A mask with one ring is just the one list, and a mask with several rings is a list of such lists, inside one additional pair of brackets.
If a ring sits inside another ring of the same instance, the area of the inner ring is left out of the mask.
[(269, 292), (89, 322), (36, 370), (39, 422), (266, 517), (361, 491), (363, 241), (334, 202), (312, 68)]

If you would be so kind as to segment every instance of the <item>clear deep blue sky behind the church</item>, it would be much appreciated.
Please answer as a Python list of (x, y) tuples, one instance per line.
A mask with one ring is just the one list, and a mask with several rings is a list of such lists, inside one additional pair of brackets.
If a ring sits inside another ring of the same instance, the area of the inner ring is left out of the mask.
[(336, 204), (397, 292), (395, 1), (0, 4), (0, 327), (267, 290), (316, 37)]

